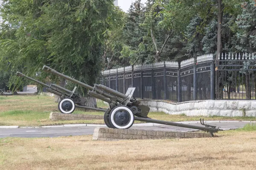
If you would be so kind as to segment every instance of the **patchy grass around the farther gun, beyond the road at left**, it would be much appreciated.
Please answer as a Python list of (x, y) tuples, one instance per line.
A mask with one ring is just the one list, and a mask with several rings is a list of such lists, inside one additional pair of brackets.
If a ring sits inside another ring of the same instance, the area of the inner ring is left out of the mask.
[[(104, 107), (101, 102), (99, 102), (99, 106)], [(50, 120), (50, 112), (58, 112), (58, 104), (50, 96), (0, 96), (0, 126), (104, 124), (103, 120)], [(85, 112), (81, 109), (77, 109), (74, 113), (103, 115), (103, 112)]]

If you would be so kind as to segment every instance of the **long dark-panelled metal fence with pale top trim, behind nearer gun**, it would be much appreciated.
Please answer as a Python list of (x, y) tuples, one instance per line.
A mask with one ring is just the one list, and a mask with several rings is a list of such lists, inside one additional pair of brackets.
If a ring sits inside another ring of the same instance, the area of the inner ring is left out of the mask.
[(103, 71), (101, 83), (123, 94), (135, 87), (134, 96), (184, 102), (215, 99), (213, 54), (180, 62), (157, 62)]

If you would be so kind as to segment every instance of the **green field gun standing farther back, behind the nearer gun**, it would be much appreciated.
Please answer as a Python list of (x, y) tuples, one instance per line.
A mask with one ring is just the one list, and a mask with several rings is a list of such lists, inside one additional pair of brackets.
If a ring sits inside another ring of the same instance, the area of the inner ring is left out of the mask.
[(87, 107), (86, 106), (87, 99), (75, 94), (76, 87), (73, 89), (73, 91), (70, 91), (66, 88), (59, 86), (59, 85), (55, 85), (55, 84), (47, 85), (47, 84), (40, 82), (36, 79), (28, 77), (20, 72), (17, 72), (16, 75), (19, 77), (25, 77), (29, 80), (32, 80), (33, 82), (43, 85), (44, 87), (47, 88), (46, 90), (48, 92), (53, 93), (57, 96), (60, 96), (61, 101), (58, 102), (58, 110), (61, 113), (73, 113), (73, 111), (75, 111), (76, 108), (90, 109), (90, 110), (103, 111), (103, 112), (106, 111), (105, 109), (101, 109), (101, 108)]

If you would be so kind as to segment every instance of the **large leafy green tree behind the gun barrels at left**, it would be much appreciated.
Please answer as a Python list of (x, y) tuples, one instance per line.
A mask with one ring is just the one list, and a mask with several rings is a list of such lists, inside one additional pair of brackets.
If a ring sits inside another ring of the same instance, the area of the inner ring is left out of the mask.
[(1, 13), (9, 24), (1, 27), (0, 64), (8, 65), (10, 84), (19, 82), (16, 71), (54, 80), (41, 71), (48, 65), (93, 85), (112, 11), (113, 0), (4, 0)]

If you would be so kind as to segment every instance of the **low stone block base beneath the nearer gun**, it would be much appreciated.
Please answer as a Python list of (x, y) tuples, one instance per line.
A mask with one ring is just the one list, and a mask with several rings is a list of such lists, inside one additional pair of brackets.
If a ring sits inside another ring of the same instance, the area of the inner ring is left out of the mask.
[(124, 139), (174, 139), (174, 138), (207, 138), (210, 133), (170, 132), (158, 130), (112, 129), (96, 127), (93, 140), (118, 141)]

